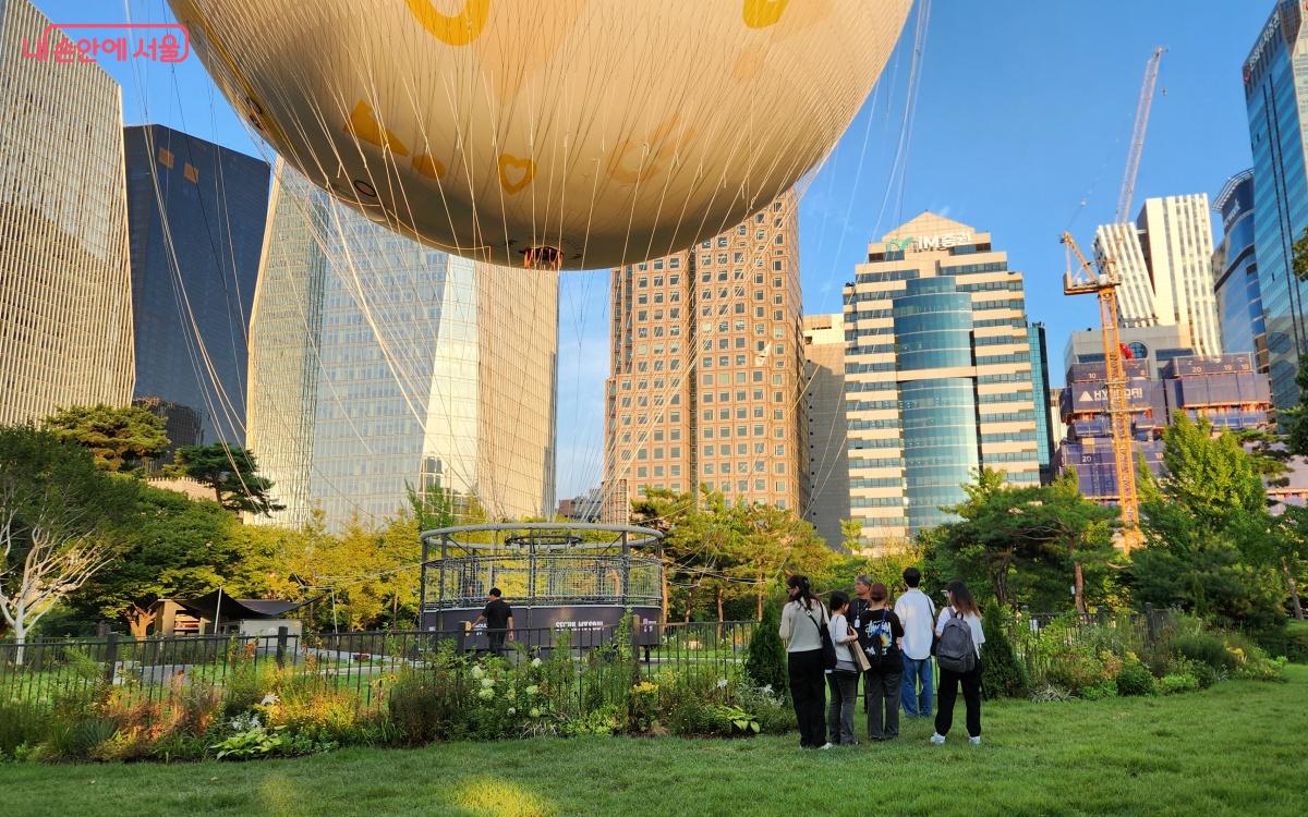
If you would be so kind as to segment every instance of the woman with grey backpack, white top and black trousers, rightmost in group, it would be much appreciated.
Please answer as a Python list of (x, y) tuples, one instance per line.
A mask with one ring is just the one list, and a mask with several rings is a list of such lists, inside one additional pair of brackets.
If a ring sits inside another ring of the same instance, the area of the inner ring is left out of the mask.
[(940, 689), (931, 742), (943, 744), (944, 736), (950, 733), (950, 727), (954, 725), (954, 703), (959, 698), (959, 686), (963, 686), (963, 701), (968, 711), (968, 742), (980, 745), (981, 644), (985, 643), (981, 609), (972, 597), (972, 591), (959, 579), (946, 586), (944, 597), (948, 607), (940, 609), (935, 621), (935, 635), (939, 639), (935, 663), (940, 667)]

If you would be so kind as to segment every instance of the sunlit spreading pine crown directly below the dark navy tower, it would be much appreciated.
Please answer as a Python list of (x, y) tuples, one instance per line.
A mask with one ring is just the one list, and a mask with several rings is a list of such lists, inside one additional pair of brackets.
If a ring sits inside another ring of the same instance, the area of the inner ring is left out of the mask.
[(129, 471), (169, 447), (164, 418), (136, 405), (73, 405), (42, 425), (59, 439), (90, 448), (101, 471)]

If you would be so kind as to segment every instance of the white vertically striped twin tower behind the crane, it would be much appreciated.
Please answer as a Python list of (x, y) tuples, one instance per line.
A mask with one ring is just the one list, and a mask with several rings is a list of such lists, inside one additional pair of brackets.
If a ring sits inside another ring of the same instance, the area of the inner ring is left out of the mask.
[(1099, 227), (1095, 252), (1117, 263), (1122, 327), (1186, 327), (1199, 354), (1222, 353), (1207, 193), (1146, 199), (1135, 224)]

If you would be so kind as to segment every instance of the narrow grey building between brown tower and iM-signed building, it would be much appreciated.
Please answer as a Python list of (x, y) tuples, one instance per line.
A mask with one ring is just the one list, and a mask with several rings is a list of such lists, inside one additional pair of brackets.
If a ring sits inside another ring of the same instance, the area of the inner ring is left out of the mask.
[(804, 518), (831, 548), (849, 519), (849, 417), (845, 410), (845, 316), (804, 315), (808, 505)]

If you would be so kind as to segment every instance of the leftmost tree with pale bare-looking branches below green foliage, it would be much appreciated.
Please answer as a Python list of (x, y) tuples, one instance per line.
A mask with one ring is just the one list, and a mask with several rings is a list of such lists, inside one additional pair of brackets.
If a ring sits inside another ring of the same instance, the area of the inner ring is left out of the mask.
[(112, 531), (140, 488), (50, 431), (0, 426), (0, 616), (20, 644), (115, 558)]

